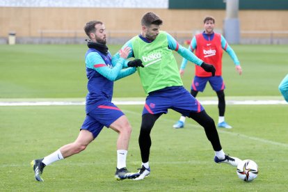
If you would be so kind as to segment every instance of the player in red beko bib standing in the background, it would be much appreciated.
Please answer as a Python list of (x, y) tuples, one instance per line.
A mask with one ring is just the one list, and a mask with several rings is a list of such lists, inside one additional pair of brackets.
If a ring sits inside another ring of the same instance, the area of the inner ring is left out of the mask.
[[(239, 74), (242, 74), (240, 62), (234, 53), (233, 49), (228, 45), (227, 41), (220, 33), (214, 33), (215, 19), (213, 17), (205, 17), (203, 33), (197, 34), (191, 40), (189, 46), (190, 51), (195, 50), (195, 55), (202, 59), (206, 63), (211, 63), (216, 68), (215, 77), (211, 76), (211, 73), (205, 72), (201, 67), (195, 65), (195, 77), (191, 85), (191, 95), (196, 97), (198, 91), (203, 92), (207, 81), (209, 81), (211, 87), (216, 92), (218, 97), (218, 127), (231, 129), (232, 127), (225, 122), (225, 83), (222, 77), (222, 56), (223, 50), (226, 51), (232, 58), (235, 69)], [(179, 73), (182, 76), (187, 64), (187, 59), (183, 58), (182, 65)], [(178, 122), (173, 125), (174, 128), (183, 128), (185, 124), (185, 116), (181, 116)]]

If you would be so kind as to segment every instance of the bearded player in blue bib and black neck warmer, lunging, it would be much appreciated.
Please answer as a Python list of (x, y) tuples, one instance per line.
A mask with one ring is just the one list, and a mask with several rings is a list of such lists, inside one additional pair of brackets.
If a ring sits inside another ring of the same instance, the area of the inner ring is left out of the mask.
[[(43, 182), (41, 175), (45, 166), (55, 161), (66, 159), (86, 149), (87, 145), (97, 138), (103, 127), (109, 127), (118, 133), (117, 167), (115, 178), (131, 179), (139, 173), (129, 173), (126, 168), (126, 157), (131, 135), (131, 125), (122, 111), (111, 100), (113, 81), (127, 77), (136, 72), (136, 67), (143, 66), (141, 60), (126, 61), (130, 48), (120, 50), (117, 63), (111, 58), (106, 47), (106, 31), (102, 22), (91, 21), (84, 26), (88, 40), (88, 51), (85, 56), (86, 75), (88, 78), (88, 95), (86, 96), (86, 118), (77, 139), (60, 147), (52, 154), (31, 162), (35, 180)], [(110, 142), (110, 141), (107, 141)]]

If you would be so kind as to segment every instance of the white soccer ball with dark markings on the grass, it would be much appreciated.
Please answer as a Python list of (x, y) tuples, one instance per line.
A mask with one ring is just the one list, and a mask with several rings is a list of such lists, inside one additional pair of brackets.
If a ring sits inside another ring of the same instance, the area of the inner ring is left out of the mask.
[(258, 166), (255, 161), (245, 159), (238, 164), (237, 175), (245, 182), (252, 182), (258, 176)]

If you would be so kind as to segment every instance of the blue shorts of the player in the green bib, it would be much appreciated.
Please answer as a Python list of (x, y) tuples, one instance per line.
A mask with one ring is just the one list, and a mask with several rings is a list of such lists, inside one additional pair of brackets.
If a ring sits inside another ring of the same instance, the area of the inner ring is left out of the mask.
[(183, 86), (173, 86), (149, 93), (142, 115), (147, 113), (166, 114), (168, 109), (173, 109), (184, 116), (189, 116), (191, 112), (199, 113), (204, 110), (200, 102)]

